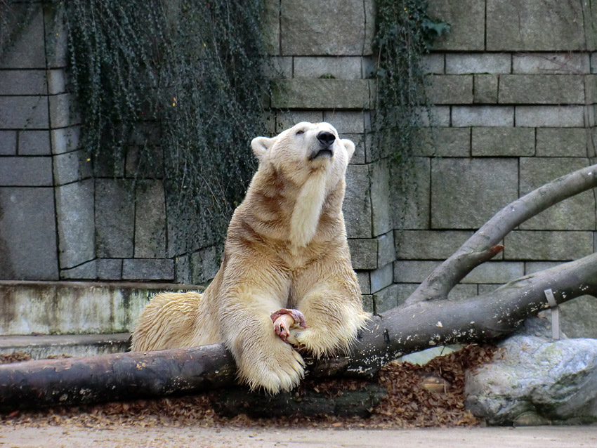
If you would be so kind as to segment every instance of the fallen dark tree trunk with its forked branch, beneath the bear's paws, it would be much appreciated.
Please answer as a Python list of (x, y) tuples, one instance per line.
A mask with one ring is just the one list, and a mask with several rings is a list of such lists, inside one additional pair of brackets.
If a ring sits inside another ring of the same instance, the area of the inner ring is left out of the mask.
[[(577, 194), (597, 186), (596, 173), (597, 165), (565, 178), (575, 180)], [(565, 178), (545, 185), (543, 191), (558, 192), (555, 185), (570, 188)], [(513, 203), (527, 198), (523, 201), (527, 211), (515, 213), (513, 207), (511, 215), (508, 207), (502, 209), (497, 216), (504, 214), (506, 224), (500, 226), (500, 220), (492, 218), (490, 227), (483, 226), (421, 284), (413, 300), (375, 316), (359, 335), (352, 355), (308, 360), (308, 375), (370, 377), (395, 357), (435, 345), (495, 341), (515, 331), (526, 317), (547, 308), (546, 289), (553, 291), (557, 303), (586, 294), (597, 297), (597, 253), (593, 253), (521, 277), (490, 294), (461, 301), (445, 298), (464, 272), (501, 250), (496, 245), (499, 235), (516, 227), (521, 216), (527, 219), (546, 208), (535, 203), (544, 201), (547, 193), (533, 193)], [(555, 195), (558, 200), (569, 196)], [(553, 199), (549, 205), (556, 202)], [(221, 344), (5, 364), (0, 366), (0, 410), (199, 393), (235, 383), (235, 371), (232, 357)], [(288, 395), (277, 400), (288, 400)]]

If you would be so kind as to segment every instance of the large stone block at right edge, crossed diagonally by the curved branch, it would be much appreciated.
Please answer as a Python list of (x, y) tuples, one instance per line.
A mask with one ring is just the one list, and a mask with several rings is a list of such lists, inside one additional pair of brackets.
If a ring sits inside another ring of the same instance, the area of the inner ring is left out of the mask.
[[(520, 159), (520, 195), (560, 176), (589, 165), (587, 159), (559, 157), (522, 157)], [(592, 191), (582, 192), (555, 204), (520, 225), (524, 230), (595, 230), (596, 204)]]

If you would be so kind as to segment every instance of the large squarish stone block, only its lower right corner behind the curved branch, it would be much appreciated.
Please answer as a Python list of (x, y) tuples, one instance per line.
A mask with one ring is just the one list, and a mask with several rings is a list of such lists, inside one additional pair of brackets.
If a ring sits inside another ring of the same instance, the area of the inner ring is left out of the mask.
[(434, 159), (431, 227), (476, 229), (518, 198), (516, 159)]

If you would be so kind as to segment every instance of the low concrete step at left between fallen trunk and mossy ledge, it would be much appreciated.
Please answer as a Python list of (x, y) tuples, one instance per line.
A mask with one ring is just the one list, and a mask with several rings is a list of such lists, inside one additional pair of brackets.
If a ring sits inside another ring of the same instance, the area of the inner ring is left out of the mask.
[(34, 360), (48, 356), (93, 356), (122, 353), (129, 348), (129, 333), (0, 336), (0, 355), (22, 352)]

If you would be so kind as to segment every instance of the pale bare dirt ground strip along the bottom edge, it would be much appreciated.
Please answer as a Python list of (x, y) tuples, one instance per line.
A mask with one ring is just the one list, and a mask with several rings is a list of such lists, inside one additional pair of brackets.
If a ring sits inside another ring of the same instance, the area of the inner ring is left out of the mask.
[(42, 428), (0, 426), (1, 448), (33, 447), (597, 447), (597, 426), (528, 428), (420, 428), (346, 430), (341, 428)]

